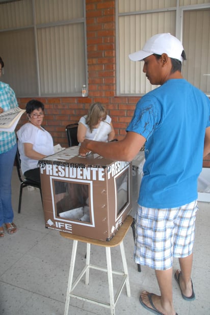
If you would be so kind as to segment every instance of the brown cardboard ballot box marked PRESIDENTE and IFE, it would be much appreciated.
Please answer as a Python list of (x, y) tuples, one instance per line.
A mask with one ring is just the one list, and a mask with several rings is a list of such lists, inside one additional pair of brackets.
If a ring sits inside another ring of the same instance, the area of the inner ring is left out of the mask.
[(45, 226), (109, 241), (132, 209), (132, 165), (78, 149), (39, 161)]

